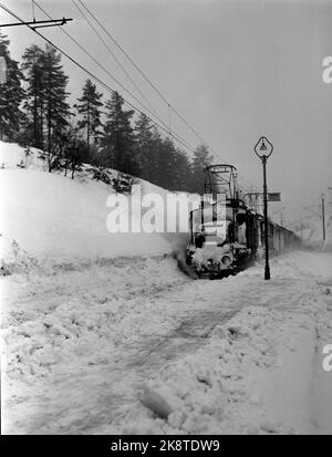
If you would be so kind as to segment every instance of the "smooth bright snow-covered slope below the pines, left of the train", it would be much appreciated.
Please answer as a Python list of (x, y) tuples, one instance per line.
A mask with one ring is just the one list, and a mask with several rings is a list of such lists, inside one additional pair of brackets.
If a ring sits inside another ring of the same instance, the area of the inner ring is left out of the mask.
[[(46, 173), (38, 149), (32, 148), (25, 168), (24, 149), (0, 142), (0, 202), (2, 258), (12, 240), (37, 258), (93, 258), (157, 256), (169, 253), (183, 237), (162, 233), (111, 233), (106, 200), (111, 186), (92, 180), (86, 173), (74, 180)], [(4, 168), (3, 168), (4, 167)], [(166, 190), (143, 183), (143, 193)], [(3, 245), (6, 249), (3, 250)]]

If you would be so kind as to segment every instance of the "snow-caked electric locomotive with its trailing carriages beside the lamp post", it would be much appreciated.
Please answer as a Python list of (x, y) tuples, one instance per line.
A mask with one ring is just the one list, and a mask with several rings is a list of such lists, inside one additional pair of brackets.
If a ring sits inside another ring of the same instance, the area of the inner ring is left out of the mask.
[[(264, 252), (263, 216), (245, 198), (234, 165), (205, 168), (204, 196), (190, 211), (186, 262), (199, 278), (224, 278), (247, 268)], [(269, 252), (301, 243), (291, 230), (268, 220)]]

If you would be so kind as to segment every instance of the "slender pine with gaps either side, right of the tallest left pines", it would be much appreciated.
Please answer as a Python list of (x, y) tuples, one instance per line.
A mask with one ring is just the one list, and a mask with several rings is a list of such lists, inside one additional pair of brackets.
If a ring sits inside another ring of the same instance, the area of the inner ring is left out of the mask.
[(80, 104), (74, 105), (77, 113), (83, 116), (77, 123), (77, 127), (86, 131), (86, 147), (90, 153), (90, 139), (94, 137), (96, 142), (97, 135), (101, 133), (98, 127), (102, 126), (100, 107), (103, 103), (100, 101), (103, 95), (97, 93), (95, 84), (91, 80), (86, 80), (83, 86), (83, 94), (77, 101)]

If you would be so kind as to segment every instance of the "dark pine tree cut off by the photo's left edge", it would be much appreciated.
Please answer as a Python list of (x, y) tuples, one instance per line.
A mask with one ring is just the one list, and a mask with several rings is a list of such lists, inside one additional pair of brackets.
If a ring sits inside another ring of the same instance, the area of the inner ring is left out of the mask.
[(24, 91), (21, 86), (23, 74), (19, 63), (11, 59), (10, 41), (0, 32), (0, 56), (6, 61), (6, 82), (0, 83), (0, 138), (13, 139), (22, 121), (20, 104)]

